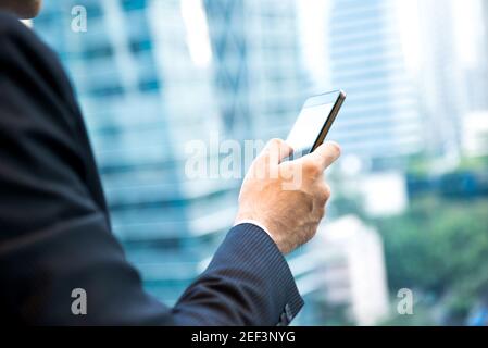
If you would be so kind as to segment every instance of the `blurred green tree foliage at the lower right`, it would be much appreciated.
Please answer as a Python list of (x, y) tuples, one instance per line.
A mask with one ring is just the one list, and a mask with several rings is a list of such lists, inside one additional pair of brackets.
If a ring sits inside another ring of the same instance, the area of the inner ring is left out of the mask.
[(412, 200), (401, 216), (375, 221), (385, 241), (395, 293), (418, 288), (445, 306), (446, 321), (463, 323), (488, 294), (488, 200)]

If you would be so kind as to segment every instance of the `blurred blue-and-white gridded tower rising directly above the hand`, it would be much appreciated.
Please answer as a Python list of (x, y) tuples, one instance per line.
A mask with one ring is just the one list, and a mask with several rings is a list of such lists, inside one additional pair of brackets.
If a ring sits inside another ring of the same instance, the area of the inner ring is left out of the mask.
[(306, 95), (296, 0), (207, 0), (221, 112), (235, 138), (286, 137)]

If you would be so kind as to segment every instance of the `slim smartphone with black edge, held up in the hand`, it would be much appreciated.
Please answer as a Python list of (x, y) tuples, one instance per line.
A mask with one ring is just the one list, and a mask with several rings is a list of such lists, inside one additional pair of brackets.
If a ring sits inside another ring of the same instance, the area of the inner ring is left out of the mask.
[(324, 142), (345, 100), (346, 92), (335, 90), (305, 101), (286, 139), (295, 150), (293, 159), (315, 151)]

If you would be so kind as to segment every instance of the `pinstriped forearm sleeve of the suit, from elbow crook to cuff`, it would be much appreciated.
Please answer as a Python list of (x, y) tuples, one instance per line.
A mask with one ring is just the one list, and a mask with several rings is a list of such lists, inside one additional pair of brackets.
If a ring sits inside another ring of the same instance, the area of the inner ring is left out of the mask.
[(302, 306), (275, 243), (260, 227), (241, 224), (185, 291), (174, 319), (185, 325), (288, 325)]

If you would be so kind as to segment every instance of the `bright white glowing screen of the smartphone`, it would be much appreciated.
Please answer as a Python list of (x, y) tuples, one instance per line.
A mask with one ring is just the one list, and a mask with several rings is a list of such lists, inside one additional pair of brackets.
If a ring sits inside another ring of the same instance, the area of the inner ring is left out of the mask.
[(305, 153), (312, 149), (322, 127), (330, 116), (334, 104), (334, 102), (312, 107), (305, 104), (286, 139), (296, 153)]

